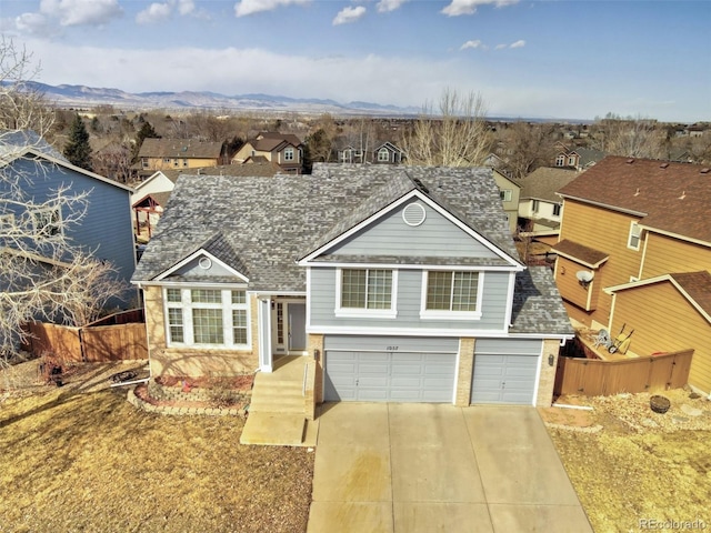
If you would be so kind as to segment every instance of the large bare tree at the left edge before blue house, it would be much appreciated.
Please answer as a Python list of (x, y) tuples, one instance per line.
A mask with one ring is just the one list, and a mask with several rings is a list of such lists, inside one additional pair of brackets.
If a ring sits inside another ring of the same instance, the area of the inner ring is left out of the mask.
[(26, 90), (23, 77), (37, 73), (30, 60), (11, 41), (0, 42), (0, 366), (11, 361), (28, 321), (83, 325), (126, 289), (110, 264), (69, 237), (90, 191), (68, 183), (50, 185), (46, 195), (31, 189), (51, 168), (42, 155), (61, 155), (32, 131), (49, 131), (53, 113)]

